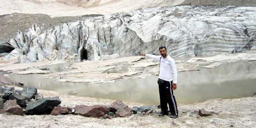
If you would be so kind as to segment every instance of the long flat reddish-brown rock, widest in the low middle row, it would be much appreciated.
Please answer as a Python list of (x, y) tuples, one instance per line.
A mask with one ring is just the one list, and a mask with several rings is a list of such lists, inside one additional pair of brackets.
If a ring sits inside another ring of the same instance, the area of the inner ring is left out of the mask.
[(85, 117), (103, 117), (105, 114), (108, 114), (110, 109), (105, 106), (93, 105), (76, 105), (75, 114), (83, 115)]

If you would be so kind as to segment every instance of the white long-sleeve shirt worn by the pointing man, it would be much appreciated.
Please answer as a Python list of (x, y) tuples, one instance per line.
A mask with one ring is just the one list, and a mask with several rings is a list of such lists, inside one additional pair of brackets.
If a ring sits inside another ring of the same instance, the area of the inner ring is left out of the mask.
[[(158, 61), (160, 61), (160, 57), (162, 57), (162, 56), (146, 54), (146, 58), (152, 58), (152, 59), (155, 59)], [(174, 74), (173, 79), (172, 79), (172, 74)], [(161, 58), (160, 72), (159, 72), (158, 78), (165, 80), (165, 81), (173, 80), (173, 83), (177, 83), (176, 64), (174, 62), (174, 59), (172, 59), (169, 55), (166, 58), (164, 58), (164, 57)]]

